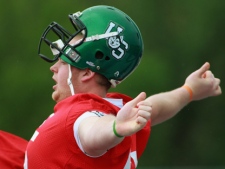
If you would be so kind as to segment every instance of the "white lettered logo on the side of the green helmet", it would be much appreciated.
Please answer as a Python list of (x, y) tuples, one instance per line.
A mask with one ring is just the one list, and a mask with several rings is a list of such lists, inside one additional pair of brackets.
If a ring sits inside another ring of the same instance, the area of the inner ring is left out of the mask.
[[(109, 27), (105, 33), (110, 33), (115, 26), (116, 26), (115, 23), (110, 22)], [(123, 31), (123, 28), (118, 26), (117, 32), (120, 34), (122, 31)], [(127, 50), (129, 46), (127, 42), (123, 40), (123, 36), (120, 36), (120, 37), (113, 36), (108, 38), (108, 45), (109, 47), (112, 48), (112, 56), (115, 57), (116, 59), (121, 59), (125, 54), (125, 50), (121, 48), (121, 43), (124, 45), (125, 49)]]

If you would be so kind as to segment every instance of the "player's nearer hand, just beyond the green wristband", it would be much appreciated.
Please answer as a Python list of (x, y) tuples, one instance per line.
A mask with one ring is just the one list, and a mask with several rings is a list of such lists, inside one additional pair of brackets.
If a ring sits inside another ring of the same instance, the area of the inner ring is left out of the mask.
[(122, 136), (128, 136), (141, 130), (151, 117), (152, 105), (145, 101), (146, 93), (140, 93), (125, 104), (116, 116), (116, 130)]

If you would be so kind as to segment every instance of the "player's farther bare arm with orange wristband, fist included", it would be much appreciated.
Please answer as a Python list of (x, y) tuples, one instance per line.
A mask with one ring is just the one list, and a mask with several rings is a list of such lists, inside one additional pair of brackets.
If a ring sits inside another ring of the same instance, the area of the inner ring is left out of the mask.
[(220, 95), (220, 79), (215, 78), (209, 68), (210, 64), (206, 62), (187, 77), (184, 86), (148, 97), (146, 101), (152, 104), (151, 124), (170, 119), (190, 101)]

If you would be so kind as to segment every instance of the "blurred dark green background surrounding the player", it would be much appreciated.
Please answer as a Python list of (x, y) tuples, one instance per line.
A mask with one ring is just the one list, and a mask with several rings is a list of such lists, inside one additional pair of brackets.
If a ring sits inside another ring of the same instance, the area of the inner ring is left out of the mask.
[[(69, 13), (102, 4), (133, 18), (145, 43), (138, 69), (112, 91), (132, 97), (168, 91), (206, 61), (224, 88), (225, 0), (1, 0), (1, 130), (28, 140), (53, 112), (51, 64), (37, 55), (47, 25), (57, 21), (66, 27)], [(225, 166), (224, 99), (192, 102), (154, 126), (138, 168)]]

